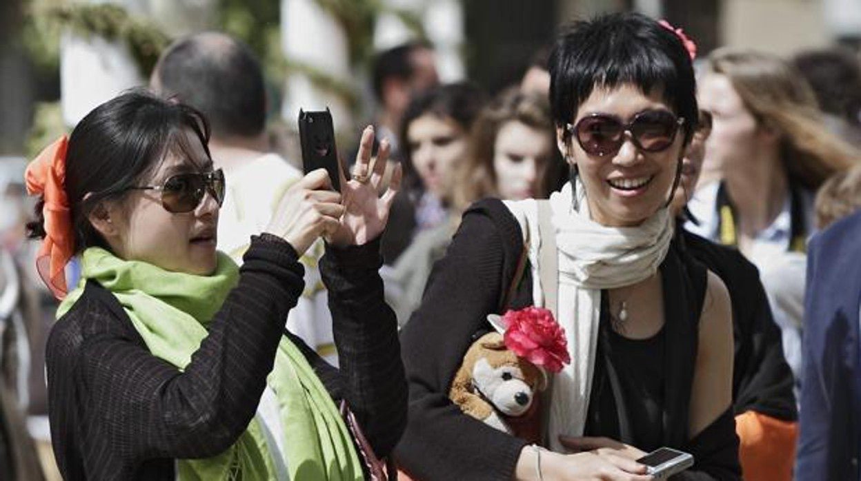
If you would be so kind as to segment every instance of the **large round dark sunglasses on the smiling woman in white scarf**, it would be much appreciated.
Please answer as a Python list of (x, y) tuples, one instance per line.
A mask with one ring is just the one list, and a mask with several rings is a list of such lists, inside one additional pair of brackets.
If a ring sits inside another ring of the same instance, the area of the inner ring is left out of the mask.
[(641, 151), (660, 152), (672, 145), (684, 117), (676, 117), (667, 110), (646, 110), (636, 114), (627, 124), (607, 114), (591, 114), (576, 125), (567, 124), (567, 131), (577, 138), (580, 147), (589, 155), (604, 157), (615, 155), (625, 142), (625, 133)]

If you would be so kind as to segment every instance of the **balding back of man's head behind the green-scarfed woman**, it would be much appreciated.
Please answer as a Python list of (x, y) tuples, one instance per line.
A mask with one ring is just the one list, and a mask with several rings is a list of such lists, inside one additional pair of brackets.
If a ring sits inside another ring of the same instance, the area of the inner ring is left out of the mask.
[(263, 132), (263, 70), (243, 42), (214, 32), (177, 40), (158, 60), (155, 77), (163, 95), (177, 96), (206, 115), (215, 137)]

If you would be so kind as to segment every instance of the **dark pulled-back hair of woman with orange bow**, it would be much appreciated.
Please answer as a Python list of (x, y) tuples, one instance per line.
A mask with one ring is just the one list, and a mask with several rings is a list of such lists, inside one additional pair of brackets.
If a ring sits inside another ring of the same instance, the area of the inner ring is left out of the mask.
[[(119, 200), (169, 152), (190, 156), (184, 129), (200, 140), (209, 157), (209, 125), (203, 114), (181, 102), (133, 90), (93, 109), (69, 137), (65, 157), (65, 194), (71, 210), (75, 252), (108, 248), (88, 216), (103, 200)], [(28, 237), (45, 237), (44, 200)]]

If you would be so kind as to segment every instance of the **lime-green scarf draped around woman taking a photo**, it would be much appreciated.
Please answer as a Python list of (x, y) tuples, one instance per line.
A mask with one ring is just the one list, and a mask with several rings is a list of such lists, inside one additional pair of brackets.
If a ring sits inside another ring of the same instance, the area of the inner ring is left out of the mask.
[[(81, 256), (81, 283), (65, 298), (58, 318), (98, 281), (120, 301), (152, 355), (184, 369), (207, 336), (209, 321), (238, 282), (238, 268), (219, 253), (208, 276), (166, 271), (146, 262), (123, 261), (107, 250), (90, 248)], [(266, 378), (276, 393), (284, 431), (284, 453), (291, 479), (362, 479), (362, 465), (338, 408), (299, 348), (282, 336), (275, 367)], [(238, 466), (247, 480), (275, 479), (273, 453), (258, 423), (224, 453), (208, 459), (179, 459), (183, 480), (227, 479)]]

